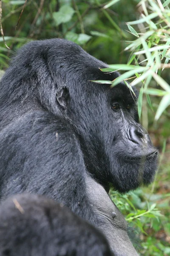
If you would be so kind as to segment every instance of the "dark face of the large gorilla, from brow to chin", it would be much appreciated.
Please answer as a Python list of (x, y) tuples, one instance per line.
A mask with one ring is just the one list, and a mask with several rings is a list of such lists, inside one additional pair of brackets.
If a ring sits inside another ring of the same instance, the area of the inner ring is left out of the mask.
[(136, 102), (127, 86), (122, 83), (110, 88), (87, 82), (83, 94), (86, 100), (79, 95), (71, 98), (70, 105), (79, 104), (79, 112), (70, 107), (69, 117), (77, 128), (89, 172), (98, 180), (102, 177), (104, 186), (112, 183), (119, 192), (150, 184), (156, 172), (157, 151), (138, 122)]

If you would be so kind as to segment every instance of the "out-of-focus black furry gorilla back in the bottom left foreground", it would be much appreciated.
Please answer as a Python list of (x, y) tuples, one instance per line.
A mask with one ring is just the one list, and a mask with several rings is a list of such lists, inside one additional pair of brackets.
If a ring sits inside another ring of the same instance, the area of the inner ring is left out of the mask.
[(98, 230), (63, 205), (42, 195), (21, 194), (0, 204), (0, 256), (7, 255), (113, 254)]

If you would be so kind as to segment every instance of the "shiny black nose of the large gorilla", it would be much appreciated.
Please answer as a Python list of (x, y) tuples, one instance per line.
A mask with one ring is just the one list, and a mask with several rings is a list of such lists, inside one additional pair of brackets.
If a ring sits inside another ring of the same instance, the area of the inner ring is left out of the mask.
[(150, 140), (149, 134), (147, 131), (142, 127), (142, 125), (138, 124), (131, 124), (129, 125), (128, 129), (128, 138), (133, 143), (139, 144), (139, 145), (152, 145), (152, 142)]

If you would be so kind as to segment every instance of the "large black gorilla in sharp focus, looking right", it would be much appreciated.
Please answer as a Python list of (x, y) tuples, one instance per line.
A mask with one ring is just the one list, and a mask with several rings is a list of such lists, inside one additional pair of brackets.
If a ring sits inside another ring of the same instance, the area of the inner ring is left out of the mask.
[(53, 198), (99, 227), (116, 256), (132, 256), (129, 242), (122, 252), (115, 228), (122, 217), (111, 220), (107, 193), (150, 184), (157, 151), (129, 88), (91, 81), (119, 76), (99, 69), (105, 67), (63, 39), (18, 51), (0, 81), (0, 199), (23, 192)]

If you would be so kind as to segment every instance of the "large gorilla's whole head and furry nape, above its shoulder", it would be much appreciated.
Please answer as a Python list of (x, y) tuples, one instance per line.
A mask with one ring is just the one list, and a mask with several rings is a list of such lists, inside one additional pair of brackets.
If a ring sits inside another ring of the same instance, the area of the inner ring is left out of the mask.
[[(128, 192), (153, 181), (157, 151), (139, 124), (136, 99), (128, 87), (90, 81), (119, 76), (99, 70), (105, 67), (70, 41), (31, 42), (20, 49), (2, 79), (2, 84), (7, 77), (11, 81), (10, 90), (2, 87), (3, 114), (9, 113), (12, 101), (10, 120), (40, 106), (62, 117), (79, 140), (86, 170), (105, 188), (111, 183), (119, 192)], [(20, 76), (13, 81), (16, 70)]]

